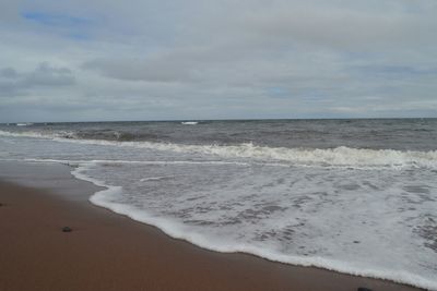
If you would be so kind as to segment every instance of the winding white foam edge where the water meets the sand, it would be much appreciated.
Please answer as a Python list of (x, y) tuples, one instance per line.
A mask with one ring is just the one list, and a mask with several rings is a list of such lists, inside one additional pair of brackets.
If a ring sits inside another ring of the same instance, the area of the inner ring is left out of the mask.
[(218, 244), (214, 244), (206, 238), (198, 234), (198, 233), (190, 233), (188, 230), (184, 229), (184, 225), (179, 223), (175, 227), (175, 221), (169, 221), (167, 219), (157, 218), (154, 216), (149, 215), (146, 211), (141, 210), (139, 211), (134, 207), (120, 205), (116, 203), (111, 203), (107, 199), (107, 196), (117, 194), (122, 191), (121, 186), (113, 186), (106, 184), (104, 181), (99, 181), (87, 177), (83, 173), (90, 167), (88, 162), (78, 165), (78, 167), (72, 167), (71, 174), (82, 181), (91, 182), (98, 187), (104, 187), (104, 190), (97, 191), (92, 194), (88, 198), (90, 203), (103, 207), (106, 209), (111, 210), (118, 215), (126, 216), (132, 220), (139, 221), (141, 223), (145, 223), (147, 226), (156, 227), (161, 231), (163, 231), (166, 235), (176, 239), (189, 242), (193, 245), (197, 245), (201, 248), (218, 252), (218, 253), (245, 253), (249, 255), (255, 255), (257, 257), (276, 262), (282, 264), (295, 265), (295, 266), (303, 266), (303, 267), (316, 267), (322, 268), (330, 271), (352, 275), (352, 276), (359, 276), (359, 277), (367, 277), (373, 279), (380, 279), (380, 280), (388, 280), (395, 283), (401, 283), (405, 286), (411, 286), (414, 288), (421, 288), (425, 290), (437, 290), (437, 284), (430, 280), (422, 278), (416, 275), (411, 275), (405, 271), (391, 271), (391, 270), (373, 270), (373, 269), (354, 269), (351, 268), (351, 265), (344, 264), (343, 262), (326, 259), (322, 257), (303, 257), (303, 256), (286, 256), (280, 253), (270, 252), (269, 254), (265, 253), (264, 250), (251, 246), (251, 245), (235, 245), (233, 247), (223, 247)]

